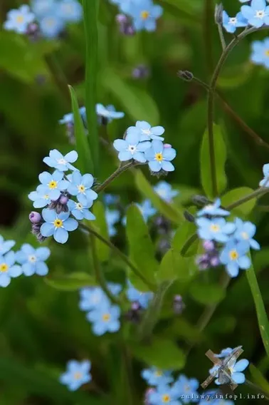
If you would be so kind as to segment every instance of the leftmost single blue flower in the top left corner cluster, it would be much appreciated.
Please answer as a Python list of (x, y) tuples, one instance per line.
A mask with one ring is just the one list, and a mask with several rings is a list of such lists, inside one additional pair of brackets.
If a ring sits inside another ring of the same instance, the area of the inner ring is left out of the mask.
[(19, 9), (10, 10), (6, 16), (7, 20), (4, 22), (4, 29), (16, 31), (19, 34), (25, 34), (28, 25), (35, 19), (35, 15), (30, 11), (29, 6), (25, 4)]

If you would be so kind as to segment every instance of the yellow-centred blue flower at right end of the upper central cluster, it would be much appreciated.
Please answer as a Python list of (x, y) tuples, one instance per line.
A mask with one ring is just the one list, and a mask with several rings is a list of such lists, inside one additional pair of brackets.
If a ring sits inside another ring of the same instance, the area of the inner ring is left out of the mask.
[(176, 157), (176, 150), (173, 148), (164, 148), (161, 140), (152, 140), (152, 147), (145, 151), (145, 156), (149, 160), (149, 168), (152, 172), (174, 171), (174, 166), (170, 160)]

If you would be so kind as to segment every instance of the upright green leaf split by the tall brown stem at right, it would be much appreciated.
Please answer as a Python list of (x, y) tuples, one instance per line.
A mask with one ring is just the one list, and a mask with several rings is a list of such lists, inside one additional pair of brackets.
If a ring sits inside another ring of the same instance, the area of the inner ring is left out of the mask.
[[(226, 162), (226, 145), (221, 133), (221, 127), (213, 124), (213, 143), (215, 153), (215, 166), (216, 166), (216, 183), (218, 188), (218, 194), (225, 190), (227, 185), (225, 162)], [(211, 166), (210, 166), (210, 154), (209, 154), (209, 133), (206, 129), (204, 138), (201, 144), (201, 184), (204, 188), (206, 196), (213, 198), (213, 189), (211, 182)]]

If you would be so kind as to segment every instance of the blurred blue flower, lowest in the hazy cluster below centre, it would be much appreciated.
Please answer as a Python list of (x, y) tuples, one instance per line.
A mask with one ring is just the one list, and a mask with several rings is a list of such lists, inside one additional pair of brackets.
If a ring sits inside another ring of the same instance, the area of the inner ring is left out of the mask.
[(101, 336), (105, 332), (117, 332), (120, 329), (120, 307), (117, 305), (103, 302), (99, 307), (88, 312), (86, 318), (92, 322), (93, 333), (97, 336)]

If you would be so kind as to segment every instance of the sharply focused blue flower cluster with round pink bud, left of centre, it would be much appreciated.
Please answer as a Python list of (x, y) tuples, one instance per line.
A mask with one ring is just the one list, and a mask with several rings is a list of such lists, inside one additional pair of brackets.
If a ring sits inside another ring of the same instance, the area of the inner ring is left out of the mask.
[[(52, 174), (41, 173), (41, 184), (36, 191), (28, 195), (33, 201), (33, 207), (48, 206), (42, 210), (42, 216), (38, 212), (30, 214), (32, 232), (39, 241), (53, 236), (56, 242), (65, 243), (68, 240), (68, 232), (78, 228), (77, 220), (95, 220), (89, 210), (97, 198), (97, 193), (91, 189), (93, 175), (81, 175), (71, 164), (77, 159), (78, 153), (75, 150), (63, 156), (56, 149), (51, 150), (49, 156), (43, 159), (43, 162), (56, 170)], [(70, 174), (67, 174), (68, 170)], [(70, 200), (71, 196), (76, 197), (77, 201)]]

